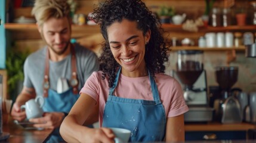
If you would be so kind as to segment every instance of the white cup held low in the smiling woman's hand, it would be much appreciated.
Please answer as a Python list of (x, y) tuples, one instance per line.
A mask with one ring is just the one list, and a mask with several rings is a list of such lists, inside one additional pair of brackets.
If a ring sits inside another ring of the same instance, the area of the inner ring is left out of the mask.
[(116, 138), (116, 143), (122, 143), (122, 142), (128, 142), (129, 137), (131, 136), (131, 130), (128, 129), (122, 129), (122, 128), (110, 128), (113, 130)]

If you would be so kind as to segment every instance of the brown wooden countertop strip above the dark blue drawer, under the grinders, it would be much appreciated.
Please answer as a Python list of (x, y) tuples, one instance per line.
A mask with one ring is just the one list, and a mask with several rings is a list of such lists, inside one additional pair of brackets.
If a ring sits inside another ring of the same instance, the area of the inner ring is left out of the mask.
[(249, 123), (206, 123), (206, 124), (185, 124), (185, 131), (232, 131), (256, 129), (255, 125)]

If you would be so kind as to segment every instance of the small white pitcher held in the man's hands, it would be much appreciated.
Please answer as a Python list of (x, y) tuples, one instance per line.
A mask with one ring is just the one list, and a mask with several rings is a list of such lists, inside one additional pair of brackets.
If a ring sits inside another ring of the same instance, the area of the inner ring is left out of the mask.
[(21, 105), (21, 110), (26, 110), (27, 119), (42, 117), (44, 111), (42, 106), (44, 105), (44, 97), (36, 97), (35, 100), (31, 99), (26, 102), (25, 105)]

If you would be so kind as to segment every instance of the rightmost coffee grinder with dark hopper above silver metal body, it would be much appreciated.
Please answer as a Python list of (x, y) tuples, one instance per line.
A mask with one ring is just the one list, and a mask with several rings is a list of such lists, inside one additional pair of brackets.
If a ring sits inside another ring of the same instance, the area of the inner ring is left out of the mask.
[(232, 86), (238, 80), (238, 67), (216, 67), (215, 76), (221, 89), (221, 98), (214, 101), (215, 120), (221, 123), (242, 122), (239, 101), (232, 95)]

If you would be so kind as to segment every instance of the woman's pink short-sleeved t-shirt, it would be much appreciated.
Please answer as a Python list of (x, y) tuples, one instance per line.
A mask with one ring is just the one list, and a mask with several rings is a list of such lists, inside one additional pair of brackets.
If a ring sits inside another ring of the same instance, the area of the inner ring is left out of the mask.
[[(94, 71), (80, 91), (80, 94), (90, 95), (95, 101), (99, 102), (100, 126), (103, 121), (107, 95), (109, 95), (108, 78), (106, 77), (103, 80), (102, 76), (102, 71)], [(178, 116), (189, 110), (177, 80), (166, 74), (159, 73), (155, 74), (155, 81), (160, 99), (165, 108), (166, 117)], [(149, 76), (127, 77), (120, 74), (114, 95), (122, 98), (153, 100)]]

